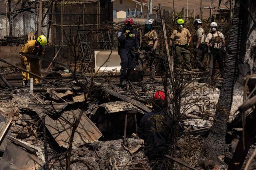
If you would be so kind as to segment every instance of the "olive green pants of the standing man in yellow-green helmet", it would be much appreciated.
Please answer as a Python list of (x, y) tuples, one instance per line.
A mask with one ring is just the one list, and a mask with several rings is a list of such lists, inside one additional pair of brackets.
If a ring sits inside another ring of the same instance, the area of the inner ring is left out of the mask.
[[(190, 53), (188, 49), (185, 47), (175, 46), (175, 65), (179, 69), (183, 69), (184, 66), (187, 67), (188, 70), (192, 70), (191, 62), (190, 62)], [(183, 65), (183, 63), (185, 65)]]

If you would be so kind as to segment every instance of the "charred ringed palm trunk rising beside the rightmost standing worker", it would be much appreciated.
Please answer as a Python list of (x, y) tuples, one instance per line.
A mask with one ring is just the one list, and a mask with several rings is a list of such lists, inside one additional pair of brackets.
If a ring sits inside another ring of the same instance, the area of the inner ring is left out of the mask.
[(212, 129), (204, 143), (204, 151), (214, 155), (225, 153), (226, 127), (233, 101), (234, 84), (238, 77), (239, 56), (244, 56), (247, 36), (247, 12), (244, 5), (247, 0), (236, 0), (229, 37), (226, 71), (215, 111)]

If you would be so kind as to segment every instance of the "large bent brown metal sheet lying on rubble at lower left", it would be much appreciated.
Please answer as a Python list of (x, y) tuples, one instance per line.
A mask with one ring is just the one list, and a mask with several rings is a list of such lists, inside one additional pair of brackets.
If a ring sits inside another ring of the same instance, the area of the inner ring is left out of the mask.
[[(68, 148), (69, 146), (72, 127), (79, 114), (82, 114), (82, 117), (74, 135), (73, 148), (92, 143), (102, 136), (101, 132), (86, 116), (84, 111), (66, 108), (69, 104), (73, 103), (52, 103), (47, 105), (32, 103), (28, 107), (34, 110), (41, 118), (45, 115), (47, 129), (59, 146), (64, 148)], [(23, 109), (25, 108), (23, 107)]]

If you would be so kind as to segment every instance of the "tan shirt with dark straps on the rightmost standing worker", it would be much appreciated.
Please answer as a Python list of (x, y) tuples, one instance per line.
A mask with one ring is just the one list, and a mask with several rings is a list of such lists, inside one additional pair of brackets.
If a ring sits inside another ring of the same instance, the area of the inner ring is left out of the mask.
[(222, 41), (225, 40), (224, 35), (221, 32), (216, 31), (216, 33), (213, 34), (213, 37), (212, 33), (209, 33), (206, 36), (205, 42), (209, 43), (210, 46), (212, 46), (212, 44), (214, 43), (214, 48), (222, 48)]

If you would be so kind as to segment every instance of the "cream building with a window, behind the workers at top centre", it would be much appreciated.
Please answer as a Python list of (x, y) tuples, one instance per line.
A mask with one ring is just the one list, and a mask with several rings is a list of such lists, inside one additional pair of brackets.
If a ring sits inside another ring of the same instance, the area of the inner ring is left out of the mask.
[[(123, 22), (127, 17), (144, 22), (148, 17), (147, 0), (111, 0), (113, 2), (113, 22)], [(153, 7), (153, 13), (156, 8)], [(136, 12), (135, 12), (136, 11)]]

